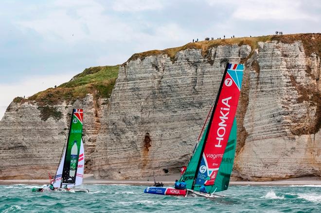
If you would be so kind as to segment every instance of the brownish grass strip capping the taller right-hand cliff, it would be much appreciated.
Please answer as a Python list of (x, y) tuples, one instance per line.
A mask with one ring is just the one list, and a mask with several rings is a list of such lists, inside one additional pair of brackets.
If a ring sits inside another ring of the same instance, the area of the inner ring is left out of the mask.
[(294, 41), (301, 40), (303, 42), (304, 50), (307, 55), (312, 52), (319, 53), (321, 55), (321, 34), (289, 34), (289, 35), (270, 35), (270, 36), (259, 36), (259, 37), (242, 37), (234, 39), (214, 39), (214, 40), (203, 40), (198, 42), (187, 43), (184, 46), (168, 48), (164, 50), (150, 50), (143, 53), (136, 53), (132, 55), (127, 61), (134, 60), (137, 58), (145, 58), (152, 55), (166, 54), (172, 61), (175, 60), (175, 55), (177, 52), (186, 49), (201, 49), (203, 57), (206, 57), (208, 50), (212, 47), (217, 47), (219, 45), (231, 45), (237, 44), (239, 46), (243, 44), (248, 44), (251, 46), (252, 50), (257, 48), (258, 42), (266, 42), (276, 40), (283, 43), (293, 43)]

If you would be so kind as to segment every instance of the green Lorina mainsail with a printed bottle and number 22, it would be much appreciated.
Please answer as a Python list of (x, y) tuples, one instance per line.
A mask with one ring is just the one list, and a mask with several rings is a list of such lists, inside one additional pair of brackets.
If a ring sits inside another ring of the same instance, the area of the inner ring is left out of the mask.
[(68, 142), (62, 171), (62, 183), (73, 184), (76, 181), (77, 165), (83, 132), (83, 110), (73, 109)]

